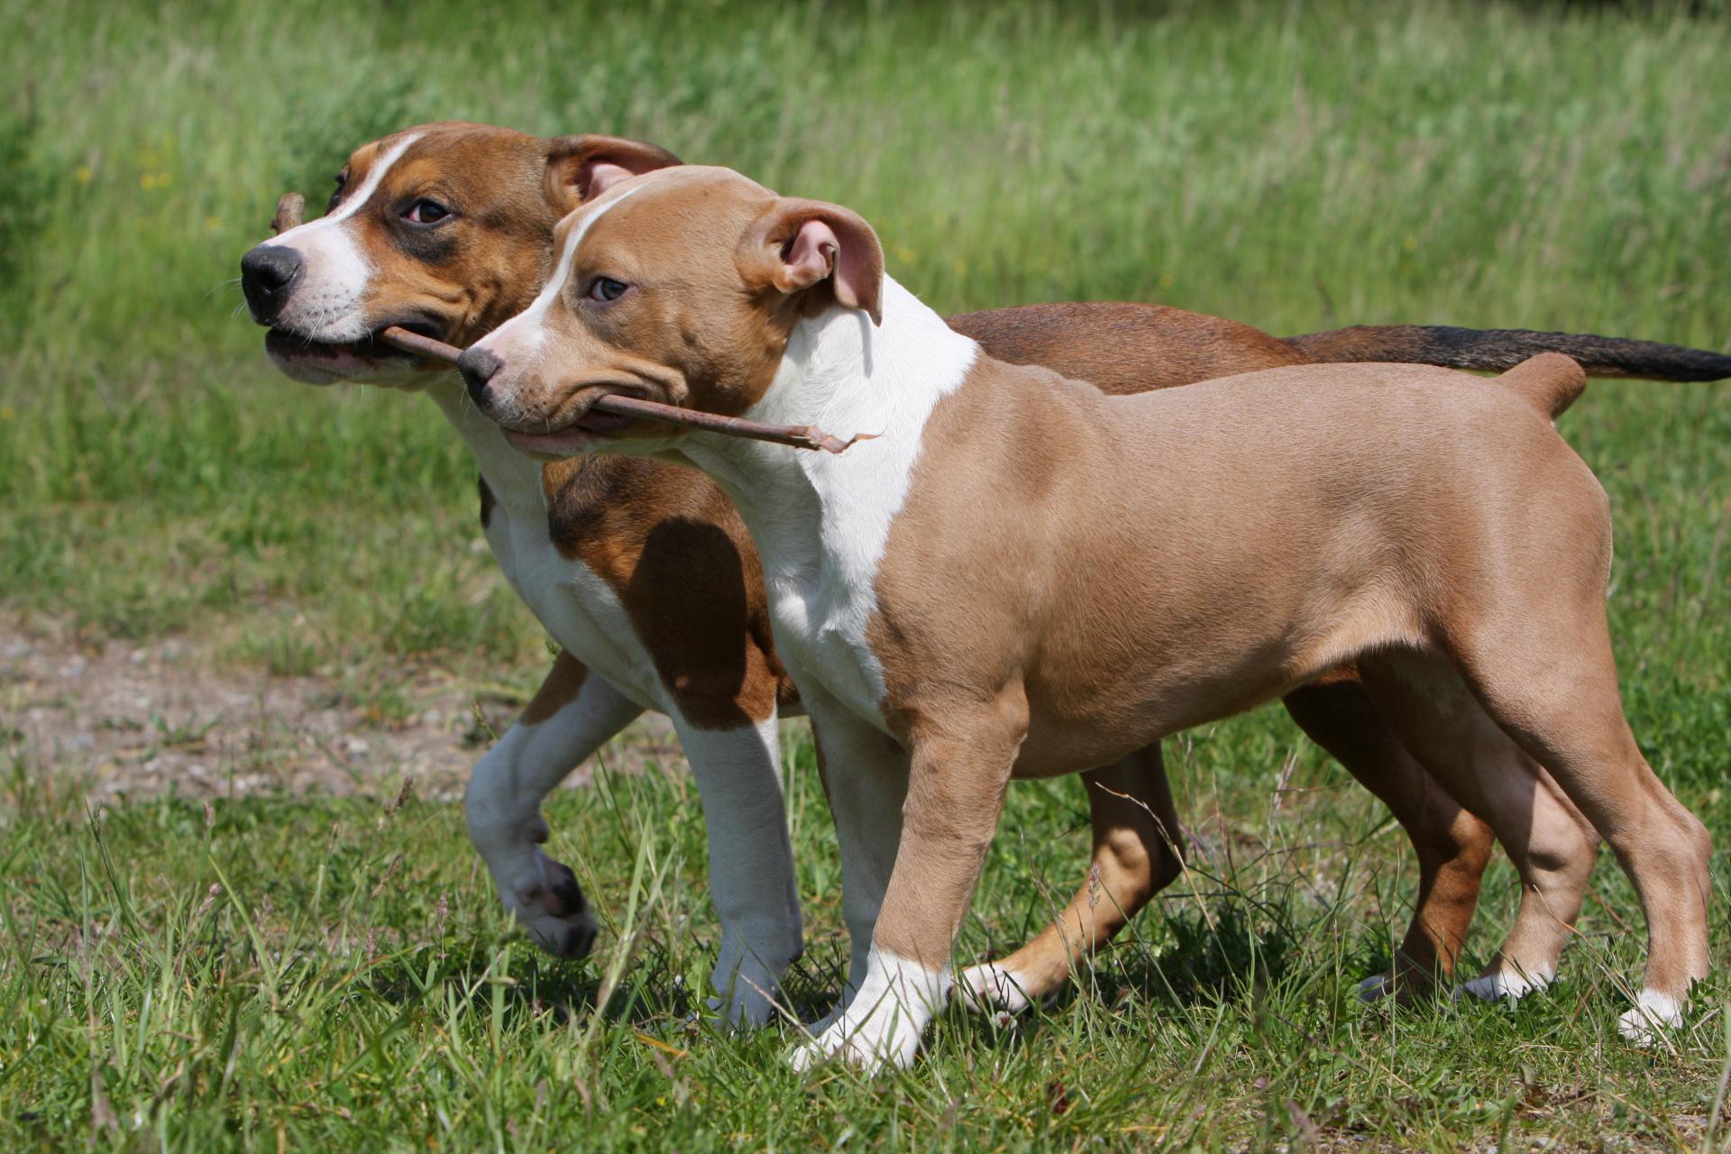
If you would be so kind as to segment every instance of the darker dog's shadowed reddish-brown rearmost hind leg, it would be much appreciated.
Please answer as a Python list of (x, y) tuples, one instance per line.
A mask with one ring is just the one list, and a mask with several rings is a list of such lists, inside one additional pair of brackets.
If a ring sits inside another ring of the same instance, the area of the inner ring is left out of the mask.
[(1464, 810), (1400, 744), (1357, 675), (1333, 675), (1284, 697), (1286, 711), (1361, 785), (1388, 806), (1418, 858), (1418, 898), (1393, 964), (1366, 978), (1366, 998), (1409, 997), (1454, 974), (1496, 844), (1490, 825)]

